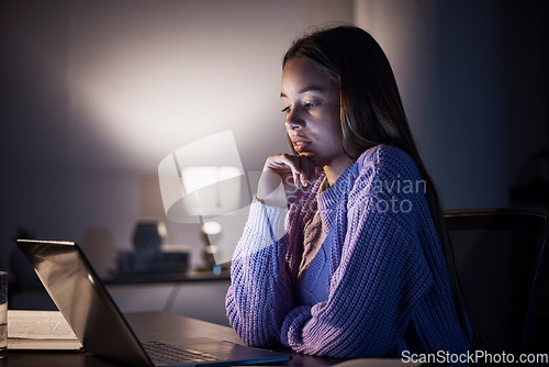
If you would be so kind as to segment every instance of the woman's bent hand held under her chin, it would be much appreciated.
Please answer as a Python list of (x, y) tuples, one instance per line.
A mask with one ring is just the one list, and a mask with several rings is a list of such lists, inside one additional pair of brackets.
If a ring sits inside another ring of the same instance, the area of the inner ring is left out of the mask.
[(271, 155), (265, 163), (256, 197), (267, 205), (287, 208), (307, 190), (321, 170), (322, 166), (315, 166), (304, 155)]

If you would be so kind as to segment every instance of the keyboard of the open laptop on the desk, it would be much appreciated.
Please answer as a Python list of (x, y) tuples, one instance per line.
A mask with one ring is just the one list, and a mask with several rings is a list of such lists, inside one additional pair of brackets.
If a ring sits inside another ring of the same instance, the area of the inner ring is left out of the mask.
[(178, 347), (163, 342), (143, 343), (143, 346), (155, 364), (173, 365), (221, 360), (221, 358), (210, 353)]

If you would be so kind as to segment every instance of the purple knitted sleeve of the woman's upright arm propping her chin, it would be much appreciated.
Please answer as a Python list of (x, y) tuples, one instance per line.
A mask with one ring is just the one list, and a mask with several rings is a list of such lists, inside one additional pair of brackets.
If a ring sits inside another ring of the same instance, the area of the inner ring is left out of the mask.
[(233, 329), (251, 346), (280, 344), (282, 321), (293, 303), (285, 266), (287, 212), (255, 200), (233, 256), (225, 308)]

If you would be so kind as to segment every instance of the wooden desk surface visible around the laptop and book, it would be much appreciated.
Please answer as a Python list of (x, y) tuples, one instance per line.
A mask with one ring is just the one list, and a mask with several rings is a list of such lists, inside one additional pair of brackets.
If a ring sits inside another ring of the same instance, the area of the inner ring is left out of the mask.
[[(195, 319), (178, 316), (163, 312), (137, 312), (125, 314), (134, 332), (139, 336), (164, 337), (212, 337), (242, 343), (231, 327)], [(287, 352), (287, 351), (283, 351)], [(341, 362), (292, 354), (292, 360), (284, 366), (322, 367)], [(5, 359), (0, 359), (0, 367), (112, 367), (120, 366), (109, 360), (81, 352), (14, 352), (9, 351)]]

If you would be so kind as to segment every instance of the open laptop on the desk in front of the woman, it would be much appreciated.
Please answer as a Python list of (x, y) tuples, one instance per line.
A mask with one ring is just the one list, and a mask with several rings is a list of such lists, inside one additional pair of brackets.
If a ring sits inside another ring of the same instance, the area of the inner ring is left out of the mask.
[(291, 359), (205, 337), (139, 341), (76, 243), (18, 240), (18, 245), (90, 353), (131, 366), (231, 366)]

